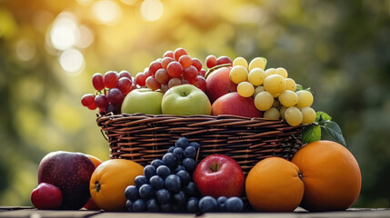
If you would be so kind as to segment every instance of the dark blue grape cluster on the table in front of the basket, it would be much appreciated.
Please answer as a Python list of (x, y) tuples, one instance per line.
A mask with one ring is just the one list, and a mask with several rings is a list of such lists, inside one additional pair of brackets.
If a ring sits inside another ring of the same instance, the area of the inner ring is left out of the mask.
[(144, 168), (135, 177), (135, 185), (125, 189), (126, 208), (130, 212), (240, 212), (243, 202), (238, 197), (201, 197), (191, 174), (196, 167), (199, 144), (179, 138), (163, 158)]

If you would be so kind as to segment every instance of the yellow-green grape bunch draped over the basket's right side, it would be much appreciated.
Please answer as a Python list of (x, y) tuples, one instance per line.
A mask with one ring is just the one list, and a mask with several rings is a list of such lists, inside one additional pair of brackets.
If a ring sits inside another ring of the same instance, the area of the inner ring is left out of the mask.
[(265, 70), (265, 65), (263, 57), (256, 57), (249, 64), (243, 57), (235, 58), (229, 76), (237, 84), (238, 94), (254, 97), (255, 107), (264, 112), (265, 118), (285, 119), (292, 126), (315, 122), (313, 94), (296, 91), (295, 81), (288, 78), (285, 68)]

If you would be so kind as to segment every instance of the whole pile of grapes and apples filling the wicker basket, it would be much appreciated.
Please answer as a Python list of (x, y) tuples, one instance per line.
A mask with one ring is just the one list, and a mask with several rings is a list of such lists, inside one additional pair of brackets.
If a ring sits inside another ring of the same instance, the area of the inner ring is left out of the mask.
[(208, 55), (207, 71), (184, 48), (167, 51), (145, 71), (92, 77), (95, 94), (82, 104), (99, 114), (219, 115), (283, 119), (292, 126), (315, 122), (313, 94), (295, 84), (283, 67), (265, 69), (266, 59)]

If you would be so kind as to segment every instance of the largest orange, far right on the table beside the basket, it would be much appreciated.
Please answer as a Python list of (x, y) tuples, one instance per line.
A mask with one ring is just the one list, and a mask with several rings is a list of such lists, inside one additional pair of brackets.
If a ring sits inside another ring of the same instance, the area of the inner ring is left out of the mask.
[(359, 196), (359, 165), (343, 145), (316, 141), (302, 147), (292, 159), (301, 170), (305, 194), (301, 204), (308, 211), (341, 211)]

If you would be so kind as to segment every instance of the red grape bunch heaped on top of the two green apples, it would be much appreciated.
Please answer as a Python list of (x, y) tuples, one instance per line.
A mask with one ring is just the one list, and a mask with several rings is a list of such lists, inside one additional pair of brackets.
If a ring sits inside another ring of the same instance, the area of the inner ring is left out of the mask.
[(179, 84), (193, 84), (205, 92), (205, 70), (197, 58), (188, 55), (184, 48), (167, 51), (135, 76), (135, 84), (165, 93)]

